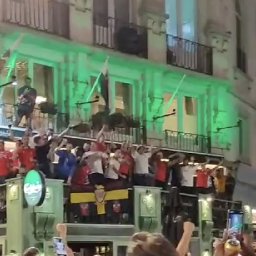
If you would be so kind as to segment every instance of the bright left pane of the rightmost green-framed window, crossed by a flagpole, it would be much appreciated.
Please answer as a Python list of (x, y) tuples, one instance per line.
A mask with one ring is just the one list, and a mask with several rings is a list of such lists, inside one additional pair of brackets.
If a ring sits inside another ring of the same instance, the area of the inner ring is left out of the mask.
[[(172, 95), (170, 93), (164, 94), (164, 103), (163, 103), (164, 111), (163, 111), (163, 115), (167, 115), (167, 114), (173, 113), (174, 109), (176, 111), (176, 114), (164, 117), (163, 130), (178, 131), (177, 99), (174, 99), (172, 101), (172, 103), (170, 104), (171, 98), (172, 98)], [(166, 106), (168, 106), (168, 109), (166, 109)]]

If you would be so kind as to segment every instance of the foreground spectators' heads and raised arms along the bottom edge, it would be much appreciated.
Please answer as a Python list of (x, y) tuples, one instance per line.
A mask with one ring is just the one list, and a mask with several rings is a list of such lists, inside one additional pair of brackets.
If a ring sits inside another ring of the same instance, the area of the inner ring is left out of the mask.
[[(64, 226), (63, 224), (58, 224)], [(163, 235), (149, 232), (135, 233), (131, 237), (131, 241), (127, 248), (126, 255), (128, 256), (191, 256), (190, 242), (192, 239), (195, 226), (191, 222), (184, 222), (183, 235), (176, 246), (168, 241)], [(62, 238), (62, 236), (61, 236)], [(63, 241), (66, 241), (66, 236)], [(75, 256), (71, 248), (67, 245), (66, 255)], [(199, 252), (198, 252), (199, 254)], [(197, 255), (198, 255), (197, 254)], [(39, 256), (40, 251), (31, 247), (25, 250), (23, 256)], [(204, 255), (204, 254), (203, 254)], [(205, 255), (210, 255), (209, 251), (206, 251)], [(228, 232), (224, 232), (223, 238), (215, 240), (213, 244), (214, 256), (253, 256), (255, 255), (253, 249), (253, 242), (249, 235), (240, 235), (230, 238)], [(98, 255), (95, 255), (98, 256)]]

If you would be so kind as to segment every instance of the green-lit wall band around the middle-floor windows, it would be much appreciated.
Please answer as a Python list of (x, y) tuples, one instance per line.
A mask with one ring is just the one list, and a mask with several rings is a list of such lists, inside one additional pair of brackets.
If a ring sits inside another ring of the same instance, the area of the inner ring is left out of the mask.
[[(2, 39), (5, 48), (7, 49), (17, 37), (17, 34), (5, 35)], [(191, 132), (191, 124), (184, 118), (183, 102), (184, 96), (190, 96), (197, 102), (198, 118), (196, 121), (193, 119), (193, 122), (197, 122), (194, 125), (197, 131), (193, 133), (211, 135), (213, 146), (226, 148), (232, 144), (235, 135), (233, 132), (216, 132), (216, 128), (229, 126), (237, 119), (232, 99), (227, 93), (230, 86), (227, 81), (41, 34), (26, 34), (9, 62), (13, 67), (19, 59), (28, 61), (28, 73), (33, 80), (36, 79), (33, 77), (34, 63), (53, 67), (53, 99), (58, 104), (59, 111), (70, 113), (71, 119), (79, 119), (76, 103), (86, 101), (92, 88), (92, 77), (97, 77), (107, 56), (111, 86), (110, 105), (115, 106), (115, 82), (130, 84), (132, 114), (147, 121), (148, 136), (162, 136), (164, 119), (153, 122), (153, 117), (168, 112), (163, 101), (165, 94), (172, 95), (182, 82), (175, 97), (177, 130)], [(184, 75), (186, 77), (182, 81)], [(6, 78), (2, 77), (3, 79)], [(82, 106), (80, 114), (84, 119), (88, 119), (91, 106)], [(165, 122), (174, 122), (172, 118)]]

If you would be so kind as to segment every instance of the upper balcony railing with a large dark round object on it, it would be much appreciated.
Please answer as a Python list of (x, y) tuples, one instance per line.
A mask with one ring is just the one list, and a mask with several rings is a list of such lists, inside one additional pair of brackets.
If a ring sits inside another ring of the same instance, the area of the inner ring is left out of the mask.
[(94, 44), (123, 53), (147, 57), (147, 28), (121, 20), (94, 15)]

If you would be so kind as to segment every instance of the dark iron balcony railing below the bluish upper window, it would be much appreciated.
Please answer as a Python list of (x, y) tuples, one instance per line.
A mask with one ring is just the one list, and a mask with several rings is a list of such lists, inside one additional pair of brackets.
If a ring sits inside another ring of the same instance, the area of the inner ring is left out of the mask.
[(212, 48), (180, 37), (167, 35), (167, 63), (212, 75)]

